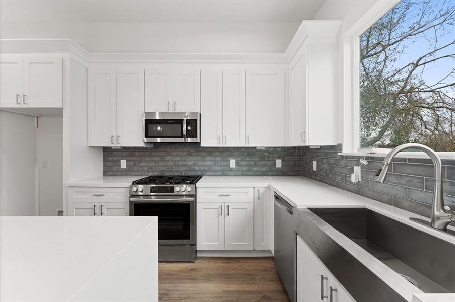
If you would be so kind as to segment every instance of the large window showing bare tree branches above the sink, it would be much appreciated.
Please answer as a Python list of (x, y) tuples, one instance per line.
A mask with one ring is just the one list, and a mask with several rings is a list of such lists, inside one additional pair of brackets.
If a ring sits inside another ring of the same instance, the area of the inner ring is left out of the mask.
[(455, 2), (402, 0), (360, 35), (360, 147), (455, 151)]

